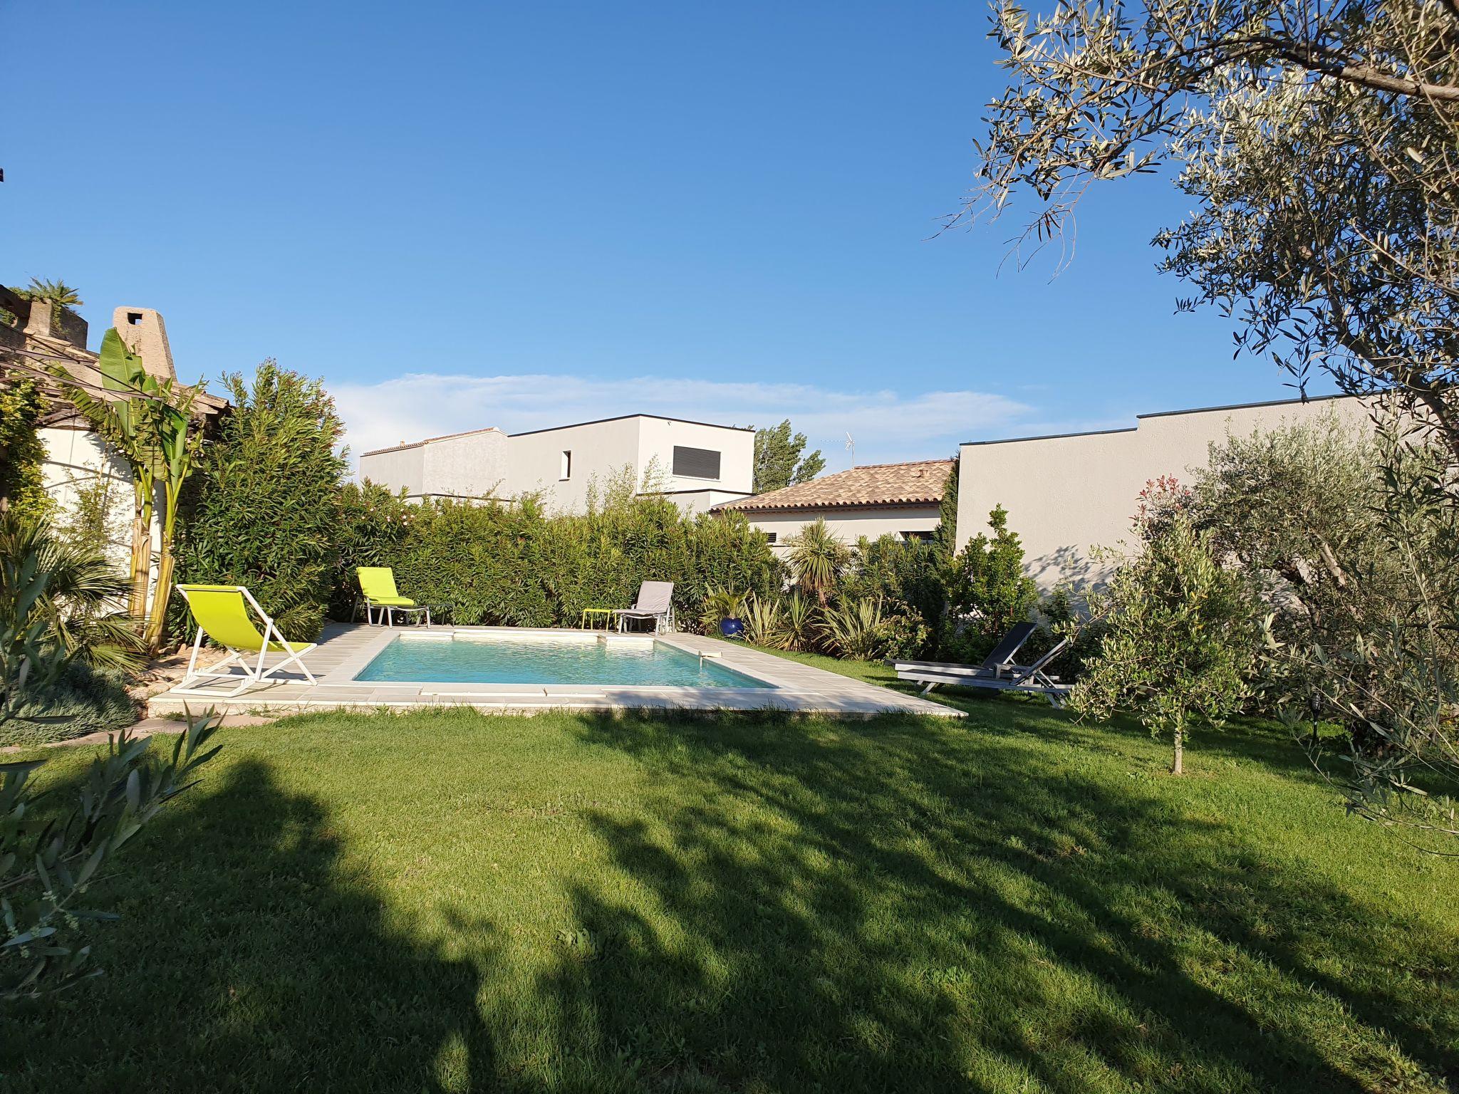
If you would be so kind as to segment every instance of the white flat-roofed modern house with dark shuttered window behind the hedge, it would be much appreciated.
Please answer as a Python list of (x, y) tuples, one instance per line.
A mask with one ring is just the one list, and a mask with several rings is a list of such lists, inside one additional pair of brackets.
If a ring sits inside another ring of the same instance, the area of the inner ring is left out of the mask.
[(540, 493), (552, 512), (575, 513), (587, 508), (594, 484), (601, 489), (624, 468), (639, 493), (664, 494), (686, 512), (705, 512), (751, 492), (754, 430), (657, 414), (527, 433), (489, 426), (366, 452), (359, 473), (413, 500), (511, 500)]

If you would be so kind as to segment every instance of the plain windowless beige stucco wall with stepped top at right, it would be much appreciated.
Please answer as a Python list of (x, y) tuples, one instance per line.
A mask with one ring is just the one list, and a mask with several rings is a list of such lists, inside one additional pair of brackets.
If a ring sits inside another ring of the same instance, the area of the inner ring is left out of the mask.
[(1250, 407), (1144, 414), (1138, 426), (1106, 433), (963, 445), (957, 493), (957, 543), (988, 528), (995, 505), (1023, 540), (1029, 573), (1043, 589), (1107, 576), (1090, 560), (1091, 546), (1129, 538), (1137, 497), (1163, 474), (1191, 480), (1210, 445), (1282, 423), (1336, 413), (1354, 430), (1370, 429), (1355, 398), (1319, 398)]

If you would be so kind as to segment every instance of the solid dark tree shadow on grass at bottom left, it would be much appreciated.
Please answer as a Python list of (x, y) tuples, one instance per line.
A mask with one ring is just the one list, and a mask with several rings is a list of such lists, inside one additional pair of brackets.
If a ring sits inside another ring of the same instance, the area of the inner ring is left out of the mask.
[(244, 760), (169, 805), (98, 896), (107, 974), (3, 1018), (16, 1091), (471, 1090), (495, 1071), (470, 958), (388, 920), (324, 807)]

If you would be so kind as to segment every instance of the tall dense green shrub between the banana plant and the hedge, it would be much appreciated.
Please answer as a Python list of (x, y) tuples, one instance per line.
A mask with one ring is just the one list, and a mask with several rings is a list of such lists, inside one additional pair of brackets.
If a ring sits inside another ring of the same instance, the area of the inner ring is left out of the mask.
[(286, 637), (320, 636), (334, 586), (343, 423), (318, 381), (266, 360), (207, 446), (179, 551), (184, 581), (247, 585)]

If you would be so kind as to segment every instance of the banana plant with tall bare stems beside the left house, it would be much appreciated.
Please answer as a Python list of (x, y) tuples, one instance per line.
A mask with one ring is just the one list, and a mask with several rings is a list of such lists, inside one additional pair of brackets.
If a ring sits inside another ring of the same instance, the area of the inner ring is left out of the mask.
[[(178, 503), (182, 484), (193, 473), (203, 445), (194, 427), (193, 404), (203, 385), (179, 385), (147, 373), (142, 356), (123, 343), (112, 327), (101, 340), (96, 362), (102, 391), (82, 388), (58, 368), (66, 397), (121, 452), (131, 468), (131, 565), (127, 614), (136, 621), (143, 643), (156, 651), (172, 595), (174, 554)], [(158, 581), (152, 585), (152, 522), (156, 512), (158, 484), (162, 486), (162, 543), (158, 553)]]

